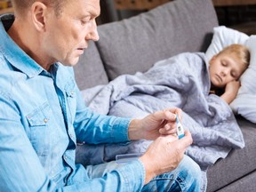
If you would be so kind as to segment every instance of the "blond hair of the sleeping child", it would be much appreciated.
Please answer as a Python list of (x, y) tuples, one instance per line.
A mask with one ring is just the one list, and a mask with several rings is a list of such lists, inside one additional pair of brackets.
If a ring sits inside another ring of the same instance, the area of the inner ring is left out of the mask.
[(222, 51), (220, 51), (216, 56), (218, 57), (220, 54), (228, 54), (230, 56), (235, 56), (236, 59), (241, 60), (244, 68), (248, 68), (250, 62), (250, 51), (243, 44), (231, 44), (225, 47)]

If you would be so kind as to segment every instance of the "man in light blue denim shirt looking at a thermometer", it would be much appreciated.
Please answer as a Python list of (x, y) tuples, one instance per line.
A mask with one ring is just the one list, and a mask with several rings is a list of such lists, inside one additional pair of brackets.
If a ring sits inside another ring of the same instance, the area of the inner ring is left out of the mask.
[[(84, 106), (70, 66), (99, 39), (100, 0), (12, 4), (15, 20), (0, 22), (0, 190), (198, 191), (200, 169), (184, 156), (191, 135), (175, 135), (179, 108), (131, 120)], [(128, 164), (75, 164), (76, 140), (139, 139), (155, 141)]]

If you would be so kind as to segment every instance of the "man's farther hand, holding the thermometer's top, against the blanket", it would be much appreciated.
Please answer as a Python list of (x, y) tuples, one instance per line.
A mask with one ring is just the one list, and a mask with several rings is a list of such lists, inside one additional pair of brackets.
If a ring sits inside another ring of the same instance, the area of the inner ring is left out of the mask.
[(180, 108), (157, 111), (143, 119), (133, 119), (129, 125), (130, 140), (156, 140), (161, 135), (176, 135), (176, 115), (181, 119)]

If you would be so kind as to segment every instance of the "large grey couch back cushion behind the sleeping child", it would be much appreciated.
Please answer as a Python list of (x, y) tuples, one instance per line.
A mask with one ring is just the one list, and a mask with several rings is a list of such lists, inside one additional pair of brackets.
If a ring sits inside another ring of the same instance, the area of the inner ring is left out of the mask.
[(114, 79), (146, 71), (157, 60), (180, 52), (205, 51), (212, 37), (205, 34), (212, 34), (216, 26), (212, 0), (172, 1), (130, 19), (101, 25), (97, 44), (108, 77)]

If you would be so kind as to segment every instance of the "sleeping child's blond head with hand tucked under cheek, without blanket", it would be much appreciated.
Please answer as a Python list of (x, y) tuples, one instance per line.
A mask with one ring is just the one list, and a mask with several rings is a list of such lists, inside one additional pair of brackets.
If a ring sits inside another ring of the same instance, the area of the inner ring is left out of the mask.
[(236, 98), (239, 77), (248, 68), (250, 52), (242, 44), (231, 44), (209, 61), (211, 93), (216, 93), (228, 104)]

